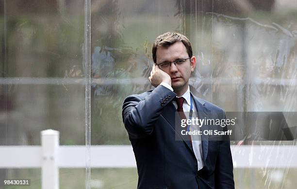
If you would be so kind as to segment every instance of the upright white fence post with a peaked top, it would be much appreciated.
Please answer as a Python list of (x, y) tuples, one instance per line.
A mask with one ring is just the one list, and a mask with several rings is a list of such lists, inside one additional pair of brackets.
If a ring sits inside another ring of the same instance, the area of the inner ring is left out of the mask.
[(41, 131), (42, 189), (59, 189), (59, 131)]

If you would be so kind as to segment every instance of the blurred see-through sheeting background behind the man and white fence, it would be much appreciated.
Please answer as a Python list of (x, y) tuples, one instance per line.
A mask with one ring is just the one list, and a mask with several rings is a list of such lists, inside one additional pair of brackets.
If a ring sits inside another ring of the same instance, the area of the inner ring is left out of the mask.
[[(85, 145), (86, 116), (91, 145), (130, 145), (122, 103), (152, 88), (151, 48), (166, 31), (192, 43), (198, 97), (230, 112), (297, 112), (297, 0), (0, 0), (0, 26), (0, 145), (40, 145), (45, 129), (60, 131), (60, 145)], [(296, 142), (252, 143), (263, 144)], [(31, 178), (32, 189), (40, 176), (40, 169), (0, 169), (0, 180)], [(234, 169), (238, 189), (295, 189), (296, 176), (291, 167)], [(137, 186), (136, 168), (92, 168), (91, 178), (92, 189)], [(60, 169), (61, 189), (84, 182), (85, 169)]]

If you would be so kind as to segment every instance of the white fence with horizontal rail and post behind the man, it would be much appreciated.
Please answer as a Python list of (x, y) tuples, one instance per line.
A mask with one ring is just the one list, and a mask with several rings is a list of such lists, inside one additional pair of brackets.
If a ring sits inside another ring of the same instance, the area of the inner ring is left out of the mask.
[[(131, 145), (91, 145), (91, 168), (136, 168)], [(295, 145), (231, 146), (234, 168), (297, 168)], [(0, 146), (0, 168), (42, 168), (42, 189), (59, 188), (59, 168), (85, 168), (85, 145), (59, 145), (59, 131), (41, 131), (41, 146)]]

